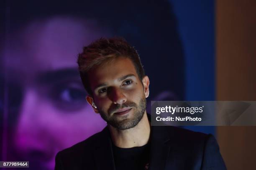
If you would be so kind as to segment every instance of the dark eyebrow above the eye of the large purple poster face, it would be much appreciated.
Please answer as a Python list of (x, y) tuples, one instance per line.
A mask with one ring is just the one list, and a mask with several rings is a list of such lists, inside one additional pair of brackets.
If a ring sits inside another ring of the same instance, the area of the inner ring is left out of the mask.
[(38, 74), (36, 81), (39, 83), (48, 83), (69, 79), (71, 77), (77, 77), (79, 79), (79, 72), (77, 68), (62, 68), (59, 70), (43, 71)]

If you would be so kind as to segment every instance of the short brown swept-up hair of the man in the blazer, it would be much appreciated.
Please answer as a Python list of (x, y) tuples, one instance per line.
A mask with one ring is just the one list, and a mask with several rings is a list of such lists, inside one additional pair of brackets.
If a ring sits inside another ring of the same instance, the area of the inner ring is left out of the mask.
[(138, 52), (123, 37), (100, 38), (83, 48), (83, 52), (78, 55), (77, 63), (82, 83), (89, 95), (93, 93), (88, 80), (88, 71), (119, 57), (127, 57), (133, 62), (138, 77), (142, 81), (145, 72)]

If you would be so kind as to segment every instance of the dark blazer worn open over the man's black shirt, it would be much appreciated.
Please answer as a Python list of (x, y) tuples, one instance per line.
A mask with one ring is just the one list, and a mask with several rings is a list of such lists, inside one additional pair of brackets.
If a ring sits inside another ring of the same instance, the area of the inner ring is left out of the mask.
[[(57, 153), (55, 170), (115, 170), (108, 128)], [(149, 170), (226, 170), (212, 135), (173, 126), (151, 127)]]

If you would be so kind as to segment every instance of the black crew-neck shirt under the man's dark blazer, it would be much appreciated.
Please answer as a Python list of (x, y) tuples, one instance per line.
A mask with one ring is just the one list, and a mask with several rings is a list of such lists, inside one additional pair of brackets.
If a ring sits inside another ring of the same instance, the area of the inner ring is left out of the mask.
[(148, 170), (150, 144), (119, 148), (112, 143), (115, 170)]

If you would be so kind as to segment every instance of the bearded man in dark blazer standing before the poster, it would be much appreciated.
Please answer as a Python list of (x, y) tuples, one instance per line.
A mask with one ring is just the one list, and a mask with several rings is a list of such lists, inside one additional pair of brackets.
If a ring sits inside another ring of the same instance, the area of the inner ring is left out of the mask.
[(56, 155), (55, 170), (222, 170), (212, 135), (151, 127), (149, 79), (136, 50), (122, 38), (101, 38), (79, 54), (87, 102), (107, 127)]

